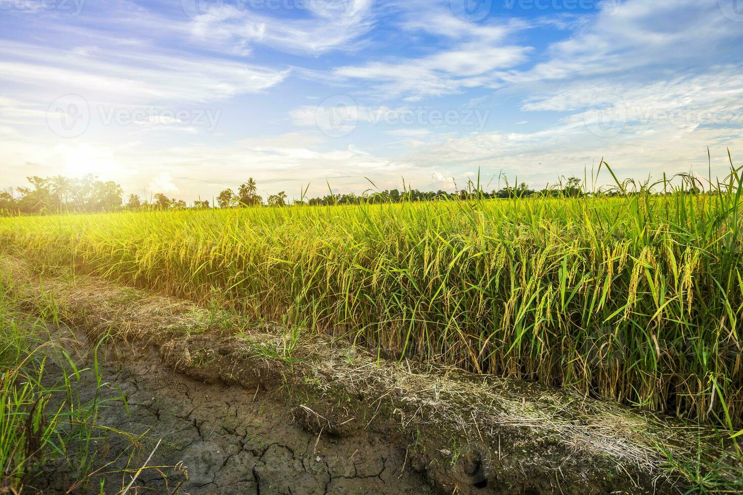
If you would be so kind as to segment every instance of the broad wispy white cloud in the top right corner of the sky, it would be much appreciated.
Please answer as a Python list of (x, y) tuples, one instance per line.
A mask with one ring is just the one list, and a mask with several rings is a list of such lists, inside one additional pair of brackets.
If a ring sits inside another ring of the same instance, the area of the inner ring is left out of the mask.
[[(519, 85), (609, 74), (657, 76), (659, 68), (681, 60), (704, 65), (722, 40), (740, 35), (739, 23), (721, 15), (717, 0), (626, 0), (618, 8), (609, 2), (583, 30), (551, 45), (546, 62), (499, 76)], [(640, 67), (648, 70), (633, 71)]]

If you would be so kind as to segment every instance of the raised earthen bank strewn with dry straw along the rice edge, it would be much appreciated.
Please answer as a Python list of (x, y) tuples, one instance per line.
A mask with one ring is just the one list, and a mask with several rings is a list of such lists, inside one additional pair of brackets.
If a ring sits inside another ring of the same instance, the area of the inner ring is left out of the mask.
[[(91, 340), (111, 335), (134, 353), (155, 346), (164, 364), (188, 376), (270, 390), (318, 436), (398, 439), (409, 467), (442, 492), (672, 493), (690, 479), (669, 465), (669, 453), (675, 465), (697, 462), (704, 471), (727, 455), (710, 430), (566, 390), (390, 361), (69, 269), (39, 274), (8, 255), (0, 268), (27, 311), (51, 304)], [(735, 482), (734, 472), (713, 474)]]

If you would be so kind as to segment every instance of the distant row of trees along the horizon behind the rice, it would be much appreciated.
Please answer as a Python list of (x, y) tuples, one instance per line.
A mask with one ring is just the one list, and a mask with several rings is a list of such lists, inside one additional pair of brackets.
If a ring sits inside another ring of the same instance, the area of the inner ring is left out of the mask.
[[(123, 189), (114, 181), (98, 180), (92, 174), (79, 179), (56, 175), (54, 177), (26, 177), (30, 186), (16, 187), (0, 191), (0, 214), (42, 214), (57, 212), (115, 212), (118, 210), (166, 210), (166, 209), (207, 209), (208, 200), (195, 200), (189, 206), (185, 200), (168, 197), (163, 193), (153, 194), (150, 200), (143, 199), (138, 194), (129, 194), (126, 201), (123, 199)], [(493, 191), (484, 191), (473, 183), (467, 184), (467, 189), (461, 191), (419, 191), (418, 189), (388, 189), (384, 191), (367, 191), (364, 194), (329, 192), (324, 196), (305, 197), (293, 200), (295, 205), (331, 206), (353, 205), (360, 203), (400, 203), (403, 201), (432, 201), (432, 200), (467, 200), (472, 198), (506, 198), (528, 197), (533, 194), (551, 194), (578, 196), (582, 194), (582, 180), (570, 177), (565, 185), (559, 188), (542, 190), (530, 189), (526, 183), (519, 186), (504, 186)], [(306, 189), (305, 189), (306, 192)], [(257, 183), (253, 177), (242, 183), (235, 193), (232, 189), (224, 189), (215, 198), (219, 208), (240, 208), (245, 206), (286, 206), (287, 194), (279, 191), (270, 194), (264, 202), (263, 197), (257, 194)]]

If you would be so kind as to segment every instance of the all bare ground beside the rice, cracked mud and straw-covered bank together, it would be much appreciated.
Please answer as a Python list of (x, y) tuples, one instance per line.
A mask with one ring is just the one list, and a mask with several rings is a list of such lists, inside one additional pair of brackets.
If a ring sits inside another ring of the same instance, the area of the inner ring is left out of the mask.
[[(51, 308), (91, 341), (131, 344), (103, 377), (131, 414), (103, 416), (149, 440), (111, 465), (119, 473), (105, 493), (126, 485), (121, 469), (142, 465), (159, 439), (152, 462), (181, 463), (188, 478), (146, 471), (137, 483), (157, 493), (181, 482), (190, 494), (683, 493), (689, 472), (669, 469), (669, 454), (681, 467), (701, 459), (701, 472), (711, 466), (724, 482), (739, 472), (713, 432), (576, 390), (387, 359), (62, 269), (41, 281), (14, 258), (0, 268), (26, 312)], [(124, 445), (112, 441), (107, 459)]]

